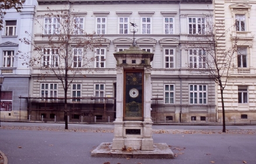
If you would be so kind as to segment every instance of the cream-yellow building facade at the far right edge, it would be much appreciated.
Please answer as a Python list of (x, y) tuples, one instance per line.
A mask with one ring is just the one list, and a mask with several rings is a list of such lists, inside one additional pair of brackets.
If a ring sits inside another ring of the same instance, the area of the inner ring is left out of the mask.
[[(216, 26), (223, 27), (216, 34), (223, 35), (222, 47), (226, 51), (236, 42), (232, 69), (225, 88), (226, 122), (256, 120), (255, 104), (255, 1), (215, 1)], [(221, 54), (220, 54), (221, 55)], [(218, 121), (222, 119), (222, 106), (218, 88)]]

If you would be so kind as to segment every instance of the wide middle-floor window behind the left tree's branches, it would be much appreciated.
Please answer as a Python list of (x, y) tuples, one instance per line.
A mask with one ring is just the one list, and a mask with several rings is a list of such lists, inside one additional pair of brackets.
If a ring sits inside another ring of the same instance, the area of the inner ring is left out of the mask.
[(54, 48), (43, 49), (43, 67), (58, 67), (59, 62), (59, 50)]

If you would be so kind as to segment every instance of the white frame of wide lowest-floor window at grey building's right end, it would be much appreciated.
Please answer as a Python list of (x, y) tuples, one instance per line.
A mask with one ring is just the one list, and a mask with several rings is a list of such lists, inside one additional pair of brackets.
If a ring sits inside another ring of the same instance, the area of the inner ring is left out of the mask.
[[(191, 90), (191, 86), (192, 86), (192, 90)], [(196, 90), (195, 90), (195, 86), (197, 86)], [(200, 86), (202, 86), (202, 90), (200, 90)], [(204, 90), (204, 86), (205, 86), (205, 90)], [(208, 85), (207, 84), (190, 84), (189, 92), (190, 92), (190, 104), (199, 104), (199, 105), (208, 104)], [(204, 96), (204, 93), (205, 93), (205, 96)], [(202, 97), (200, 97), (200, 94), (202, 94)]]

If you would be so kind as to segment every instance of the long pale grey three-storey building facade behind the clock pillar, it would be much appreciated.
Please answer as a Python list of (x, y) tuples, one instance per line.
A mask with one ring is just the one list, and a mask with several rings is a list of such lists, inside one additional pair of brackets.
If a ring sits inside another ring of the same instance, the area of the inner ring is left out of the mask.
[[(212, 1), (37, 2), (38, 22), (33, 31), (37, 45), (45, 44), (49, 35), (56, 33), (50, 27), (58, 27), (54, 22), (57, 17), (48, 21), (47, 8), (68, 9), (78, 20), (80, 30), (95, 32), (96, 40), (102, 35), (100, 47), (86, 52), (87, 58), (96, 60), (88, 64), (83, 75), (74, 76), (68, 89), (70, 121), (93, 122), (95, 116), (97, 121), (114, 120), (117, 72), (113, 54), (132, 45), (131, 31), (135, 27), (136, 45), (155, 54), (151, 63), (153, 122), (216, 122), (216, 85), (198, 57), (205, 55), (204, 49), (192, 46), (195, 37), (204, 38), (206, 22), (212, 21)], [(72, 37), (78, 36), (83, 34), (78, 31)], [(41, 116), (63, 120), (62, 84), (53, 74), (41, 78), (44, 72), (42, 65), (31, 68), (30, 96), (24, 98), (29, 102), (28, 115), (36, 120)]]

